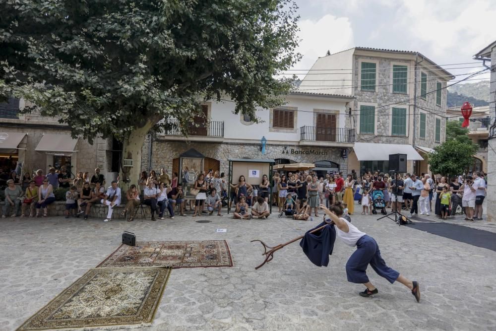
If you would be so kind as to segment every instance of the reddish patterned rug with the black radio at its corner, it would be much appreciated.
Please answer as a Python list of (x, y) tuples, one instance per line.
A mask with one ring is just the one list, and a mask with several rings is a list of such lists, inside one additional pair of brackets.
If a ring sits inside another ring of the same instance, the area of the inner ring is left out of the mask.
[(136, 246), (121, 245), (97, 268), (136, 266), (233, 266), (233, 260), (225, 240), (142, 241), (137, 242)]

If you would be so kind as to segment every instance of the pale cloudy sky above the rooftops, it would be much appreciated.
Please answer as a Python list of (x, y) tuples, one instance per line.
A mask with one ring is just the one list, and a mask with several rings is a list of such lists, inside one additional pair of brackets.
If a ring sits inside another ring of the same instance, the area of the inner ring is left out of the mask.
[[(475, 62), (496, 40), (494, 0), (296, 0), (303, 55), (293, 69), (355, 46), (417, 51), (438, 65)], [(448, 71), (458, 75), (483, 67)], [(303, 78), (304, 76), (300, 76)], [(459, 80), (465, 76), (458, 76)], [(489, 74), (481, 76), (489, 79)]]

